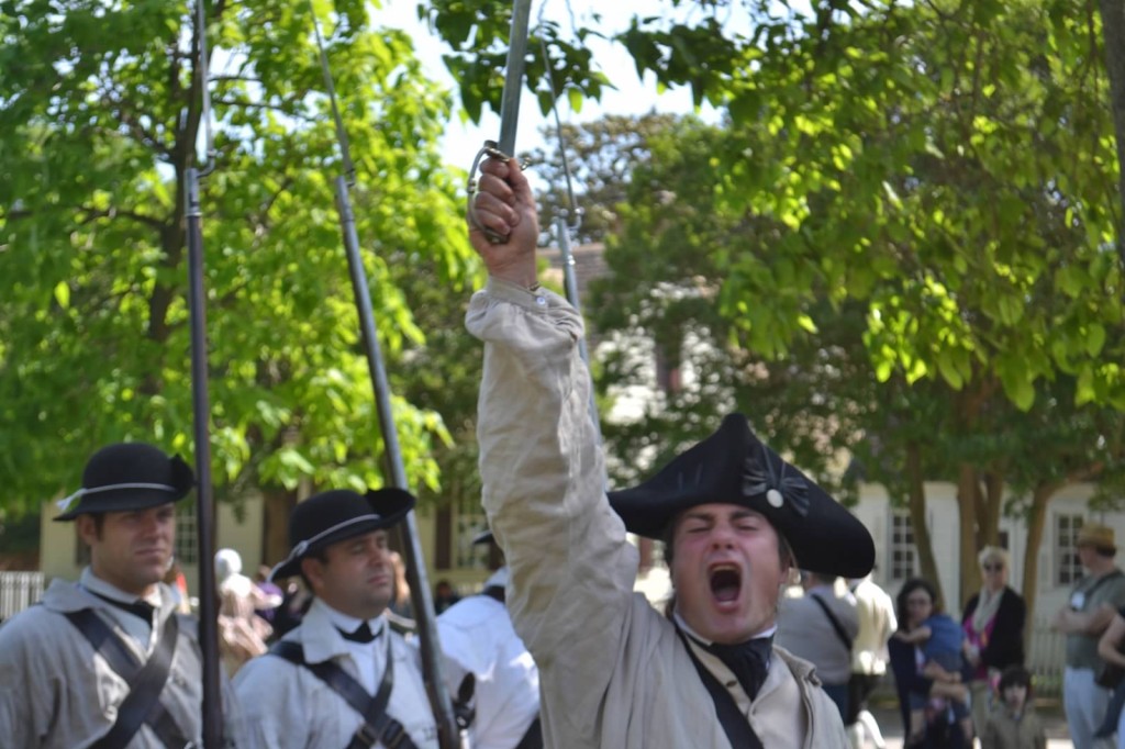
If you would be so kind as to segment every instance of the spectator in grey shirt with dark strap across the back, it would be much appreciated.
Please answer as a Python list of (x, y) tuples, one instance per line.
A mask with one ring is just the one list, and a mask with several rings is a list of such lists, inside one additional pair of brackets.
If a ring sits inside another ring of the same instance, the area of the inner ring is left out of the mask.
[(852, 675), (852, 643), (860, 632), (855, 598), (836, 594), (836, 576), (802, 571), (803, 596), (783, 598), (777, 613), (780, 647), (817, 668), (821, 687), (847, 715), (847, 684)]

